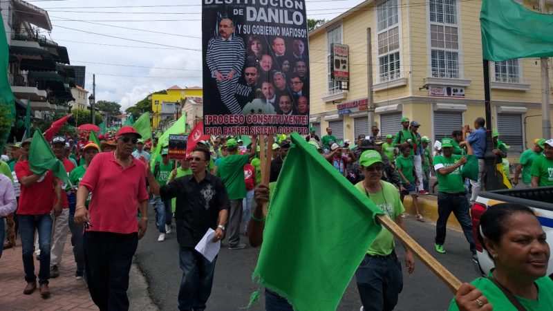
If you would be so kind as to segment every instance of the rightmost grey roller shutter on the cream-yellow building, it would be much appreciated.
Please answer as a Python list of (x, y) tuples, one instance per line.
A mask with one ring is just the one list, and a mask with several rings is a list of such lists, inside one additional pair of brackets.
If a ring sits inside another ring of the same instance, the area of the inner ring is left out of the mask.
[(498, 113), (497, 131), (499, 140), (508, 144), (509, 153), (518, 154), (523, 152), (523, 125), (522, 115), (512, 113)]

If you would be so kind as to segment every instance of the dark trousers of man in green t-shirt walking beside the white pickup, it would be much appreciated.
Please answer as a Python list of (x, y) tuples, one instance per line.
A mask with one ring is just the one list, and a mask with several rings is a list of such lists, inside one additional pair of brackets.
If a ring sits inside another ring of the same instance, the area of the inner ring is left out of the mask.
[(438, 192), (438, 221), (436, 222), (436, 238), (435, 243), (444, 245), (445, 234), (447, 231), (447, 219), (453, 212), (453, 215), (459, 221), (462, 232), (469, 242), (471, 252), (476, 253), (476, 245), (472, 236), (472, 223), (469, 216), (469, 201), (464, 193), (447, 194)]

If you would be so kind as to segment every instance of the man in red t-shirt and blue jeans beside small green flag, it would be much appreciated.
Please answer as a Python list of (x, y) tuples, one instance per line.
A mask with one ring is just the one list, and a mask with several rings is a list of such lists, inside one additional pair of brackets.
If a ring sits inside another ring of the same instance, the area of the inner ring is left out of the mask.
[(39, 284), (40, 294), (46, 299), (50, 296), (48, 279), (50, 279), (50, 235), (52, 234), (52, 217), (50, 211), (54, 207), (55, 214), (62, 212), (61, 184), (51, 171), (44, 175), (32, 173), (29, 168), (27, 156), (30, 142), (21, 144), (21, 158), (15, 164), (17, 180), (21, 184), (19, 194), (19, 207), (17, 218), (19, 220), (19, 233), (21, 235), (21, 248), (23, 253), (23, 267), (27, 286), (24, 294), (32, 294), (37, 289), (37, 276), (35, 276), (35, 263), (32, 258), (33, 241), (35, 231), (39, 235), (40, 269)]

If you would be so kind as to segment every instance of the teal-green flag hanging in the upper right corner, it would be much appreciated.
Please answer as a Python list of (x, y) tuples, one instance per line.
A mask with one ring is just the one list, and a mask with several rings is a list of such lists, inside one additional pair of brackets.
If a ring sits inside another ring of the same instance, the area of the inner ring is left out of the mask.
[(484, 59), (553, 56), (553, 15), (533, 12), (513, 0), (484, 0), (480, 25)]

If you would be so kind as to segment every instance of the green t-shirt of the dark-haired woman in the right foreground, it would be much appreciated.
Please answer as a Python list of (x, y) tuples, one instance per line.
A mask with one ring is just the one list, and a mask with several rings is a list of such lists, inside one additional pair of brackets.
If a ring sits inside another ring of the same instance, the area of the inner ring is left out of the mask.
[[(549, 276), (543, 276), (535, 282), (538, 287), (538, 299), (525, 299), (516, 297), (518, 302), (523, 305), (527, 311), (549, 311), (553, 306), (553, 281)], [(516, 307), (507, 299), (507, 296), (489, 279), (478, 278), (471, 282), (487, 298), (489, 303), (494, 306), (494, 310), (516, 311)], [(455, 299), (449, 303), (449, 311), (459, 311)]]

